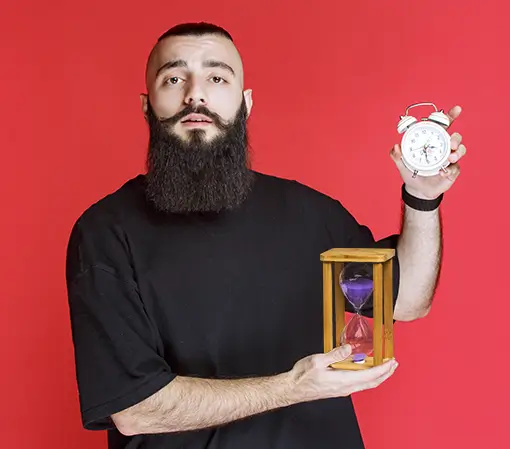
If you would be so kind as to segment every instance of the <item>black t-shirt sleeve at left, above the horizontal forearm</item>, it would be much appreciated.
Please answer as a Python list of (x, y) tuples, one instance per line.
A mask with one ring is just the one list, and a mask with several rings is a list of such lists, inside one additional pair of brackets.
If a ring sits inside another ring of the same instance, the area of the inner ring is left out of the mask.
[(175, 375), (162, 356), (118, 227), (78, 220), (66, 280), (82, 422), (89, 430), (110, 429), (112, 414), (156, 393)]

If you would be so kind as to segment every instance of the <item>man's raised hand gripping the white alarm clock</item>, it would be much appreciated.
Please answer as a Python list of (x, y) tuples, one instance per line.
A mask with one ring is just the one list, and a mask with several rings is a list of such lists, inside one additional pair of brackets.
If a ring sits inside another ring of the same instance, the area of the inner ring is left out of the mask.
[[(450, 126), (459, 117), (461, 111), (460, 106), (450, 109), (447, 114)], [(450, 165), (446, 167), (446, 172), (441, 170), (438, 175), (429, 177), (416, 176), (413, 178), (413, 173), (402, 162), (402, 151), (399, 144), (395, 144), (390, 155), (402, 176), (406, 190), (411, 195), (423, 199), (435, 199), (449, 190), (460, 175), (459, 160), (466, 154), (466, 147), (462, 144), (462, 136), (457, 132), (451, 135), (451, 150), (448, 158)]]

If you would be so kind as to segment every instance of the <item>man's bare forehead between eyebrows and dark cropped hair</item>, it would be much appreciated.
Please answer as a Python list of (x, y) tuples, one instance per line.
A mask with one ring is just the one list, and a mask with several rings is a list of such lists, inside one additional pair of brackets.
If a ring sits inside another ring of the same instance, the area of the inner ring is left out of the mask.
[(204, 61), (224, 62), (234, 69), (236, 78), (242, 79), (239, 52), (223, 36), (171, 36), (158, 42), (147, 63), (147, 81), (154, 80), (158, 69), (173, 60), (185, 61), (190, 70), (199, 69)]

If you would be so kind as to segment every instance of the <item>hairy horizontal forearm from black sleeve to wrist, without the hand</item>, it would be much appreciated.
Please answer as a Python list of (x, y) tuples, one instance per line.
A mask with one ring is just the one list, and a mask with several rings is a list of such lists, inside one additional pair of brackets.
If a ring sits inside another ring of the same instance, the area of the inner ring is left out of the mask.
[(126, 435), (196, 430), (292, 405), (290, 389), (288, 374), (239, 380), (176, 377), (112, 418)]

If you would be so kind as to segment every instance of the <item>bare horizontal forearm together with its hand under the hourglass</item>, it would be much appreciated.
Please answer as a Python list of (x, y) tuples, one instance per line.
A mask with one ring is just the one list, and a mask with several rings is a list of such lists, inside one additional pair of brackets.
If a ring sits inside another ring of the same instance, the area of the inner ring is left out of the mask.
[(112, 415), (124, 435), (183, 432), (220, 426), (277, 408), (376, 388), (395, 371), (395, 360), (360, 371), (332, 370), (349, 345), (298, 360), (288, 372), (250, 379), (177, 376), (138, 404)]

